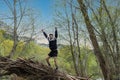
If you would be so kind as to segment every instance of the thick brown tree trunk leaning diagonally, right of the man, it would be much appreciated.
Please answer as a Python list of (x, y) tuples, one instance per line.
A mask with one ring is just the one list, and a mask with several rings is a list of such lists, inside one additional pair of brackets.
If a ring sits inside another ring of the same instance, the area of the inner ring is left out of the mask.
[(87, 8), (86, 8), (85, 4), (83, 3), (83, 0), (78, 0), (78, 3), (80, 5), (81, 12), (84, 16), (86, 27), (87, 27), (87, 30), (89, 32), (89, 36), (90, 36), (92, 45), (94, 47), (94, 53), (99, 61), (104, 79), (105, 80), (112, 80), (111, 76), (109, 75), (110, 72), (109, 72), (108, 65), (107, 65), (107, 63), (102, 55), (100, 48), (99, 48), (97, 38), (96, 38), (96, 35), (94, 33), (94, 29), (93, 29), (94, 26), (90, 22), (90, 19), (89, 19), (88, 13), (87, 13)]

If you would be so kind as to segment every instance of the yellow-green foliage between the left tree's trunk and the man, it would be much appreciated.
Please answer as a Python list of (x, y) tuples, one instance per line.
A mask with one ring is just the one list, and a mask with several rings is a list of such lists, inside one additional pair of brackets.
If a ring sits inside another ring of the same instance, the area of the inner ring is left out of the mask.
[(35, 60), (42, 60), (47, 56), (47, 53), (49, 52), (48, 48), (41, 47), (34, 42), (30, 42), (28, 44), (20, 43), (20, 45), (17, 46), (17, 51), (15, 58), (18, 57), (24, 57), (24, 58), (33, 58)]

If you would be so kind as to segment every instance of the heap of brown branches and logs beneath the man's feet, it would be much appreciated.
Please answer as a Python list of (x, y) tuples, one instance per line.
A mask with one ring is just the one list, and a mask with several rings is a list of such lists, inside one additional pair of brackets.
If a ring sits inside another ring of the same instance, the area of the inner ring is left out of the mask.
[(31, 59), (0, 57), (0, 76), (16, 74), (26, 80), (88, 80), (77, 78)]

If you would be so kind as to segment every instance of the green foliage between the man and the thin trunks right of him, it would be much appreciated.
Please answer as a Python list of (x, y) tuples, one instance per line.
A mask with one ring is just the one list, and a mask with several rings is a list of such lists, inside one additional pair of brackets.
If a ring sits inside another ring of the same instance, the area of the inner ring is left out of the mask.
[(63, 46), (59, 50), (58, 61), (59, 61), (59, 66), (62, 69), (66, 70), (70, 74), (75, 74), (69, 46)]

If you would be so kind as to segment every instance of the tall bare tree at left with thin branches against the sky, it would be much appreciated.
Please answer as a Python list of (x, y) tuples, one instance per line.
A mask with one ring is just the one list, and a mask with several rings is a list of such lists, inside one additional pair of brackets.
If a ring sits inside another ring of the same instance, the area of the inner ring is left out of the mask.
[[(31, 14), (29, 13), (29, 9), (26, 7), (26, 1), (25, 0), (4, 0), (5, 4), (9, 8), (11, 15), (10, 18), (7, 19), (11, 20), (11, 23), (13, 23), (13, 48), (10, 52), (10, 57), (12, 57), (16, 52), (16, 47), (18, 45), (19, 40), (22, 39), (22, 37), (25, 36), (25, 34), (29, 33), (28, 40), (24, 41), (30, 41), (32, 36), (34, 35), (35, 31), (35, 17), (31, 17)], [(33, 15), (33, 14), (32, 14)], [(30, 18), (29, 20), (24, 23), (24, 20)], [(34, 19), (33, 19), (34, 18)], [(26, 37), (26, 36), (25, 36)]]

